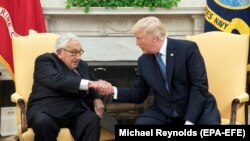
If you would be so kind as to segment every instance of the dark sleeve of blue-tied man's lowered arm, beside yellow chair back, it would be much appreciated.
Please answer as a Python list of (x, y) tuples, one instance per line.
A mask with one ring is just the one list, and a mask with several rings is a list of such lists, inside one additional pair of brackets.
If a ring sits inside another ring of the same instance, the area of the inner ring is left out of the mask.
[(198, 46), (192, 42), (187, 64), (190, 79), (190, 93), (185, 119), (196, 123), (200, 118), (208, 97), (208, 80), (206, 67)]

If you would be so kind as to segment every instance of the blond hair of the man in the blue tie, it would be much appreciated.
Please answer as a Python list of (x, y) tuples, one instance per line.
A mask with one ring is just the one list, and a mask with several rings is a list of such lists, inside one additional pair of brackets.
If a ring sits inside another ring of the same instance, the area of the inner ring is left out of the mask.
[(162, 22), (154, 16), (142, 18), (131, 28), (131, 32), (134, 34), (139, 30), (144, 30), (144, 35), (158, 36), (159, 39), (164, 40), (166, 38), (166, 28)]

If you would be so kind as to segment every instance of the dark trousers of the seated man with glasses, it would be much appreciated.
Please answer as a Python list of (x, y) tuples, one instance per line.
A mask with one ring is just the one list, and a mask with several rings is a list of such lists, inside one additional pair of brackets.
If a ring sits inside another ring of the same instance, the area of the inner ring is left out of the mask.
[(62, 127), (69, 128), (75, 141), (99, 141), (100, 138), (100, 118), (80, 104), (60, 119), (38, 110), (32, 114), (30, 127), (35, 141), (56, 141)]

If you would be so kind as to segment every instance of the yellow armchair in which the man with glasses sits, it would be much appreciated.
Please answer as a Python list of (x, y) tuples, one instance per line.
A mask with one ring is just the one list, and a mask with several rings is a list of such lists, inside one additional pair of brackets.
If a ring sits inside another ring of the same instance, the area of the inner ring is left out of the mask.
[[(53, 33), (37, 33), (12, 38), (16, 92), (11, 95), (11, 101), (16, 103), (17, 131), (20, 141), (34, 140), (33, 130), (27, 127), (26, 106), (33, 84), (35, 59), (42, 53), (53, 52), (58, 36)], [(113, 137), (112, 132), (101, 128), (101, 140)], [(74, 141), (68, 128), (60, 129), (57, 140)]]

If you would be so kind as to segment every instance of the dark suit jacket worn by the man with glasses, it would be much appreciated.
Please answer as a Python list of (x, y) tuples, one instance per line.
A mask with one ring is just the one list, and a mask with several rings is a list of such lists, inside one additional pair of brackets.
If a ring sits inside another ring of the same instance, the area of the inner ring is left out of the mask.
[(93, 90), (79, 91), (81, 78), (93, 80), (88, 65), (80, 61), (76, 75), (54, 53), (46, 53), (35, 61), (34, 84), (28, 101), (28, 120), (32, 111), (41, 110), (52, 117), (60, 118), (83, 104), (93, 110), (93, 99), (100, 95)]

